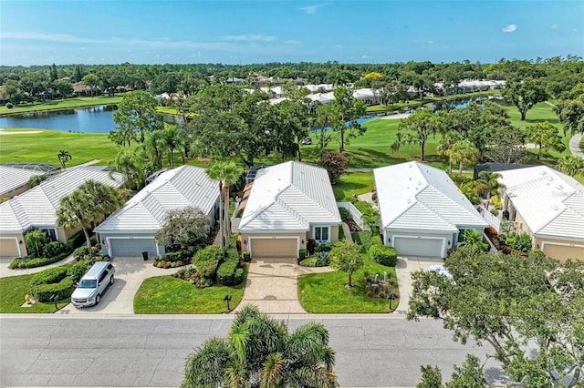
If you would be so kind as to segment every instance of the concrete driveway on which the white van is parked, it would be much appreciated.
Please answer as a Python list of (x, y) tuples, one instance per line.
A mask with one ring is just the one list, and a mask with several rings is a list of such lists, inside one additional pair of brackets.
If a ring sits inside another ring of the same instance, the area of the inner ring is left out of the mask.
[(101, 296), (98, 305), (76, 308), (71, 303), (57, 314), (133, 314), (134, 296), (140, 288), (142, 281), (152, 276), (170, 275), (176, 269), (164, 270), (155, 268), (152, 260), (144, 261), (142, 258), (116, 258), (111, 261), (115, 273), (115, 282)]

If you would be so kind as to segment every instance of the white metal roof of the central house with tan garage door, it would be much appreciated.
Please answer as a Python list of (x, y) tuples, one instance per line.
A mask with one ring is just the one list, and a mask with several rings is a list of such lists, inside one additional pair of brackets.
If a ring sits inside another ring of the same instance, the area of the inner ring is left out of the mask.
[(257, 172), (239, 230), (309, 230), (319, 223), (340, 224), (327, 170), (289, 161)]

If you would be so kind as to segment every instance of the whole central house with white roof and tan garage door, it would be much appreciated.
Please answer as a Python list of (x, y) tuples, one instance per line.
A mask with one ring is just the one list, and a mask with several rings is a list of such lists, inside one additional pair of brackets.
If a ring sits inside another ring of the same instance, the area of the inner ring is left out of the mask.
[(238, 231), (252, 257), (297, 258), (309, 239), (339, 240), (341, 224), (327, 170), (289, 161), (259, 169), (239, 202)]

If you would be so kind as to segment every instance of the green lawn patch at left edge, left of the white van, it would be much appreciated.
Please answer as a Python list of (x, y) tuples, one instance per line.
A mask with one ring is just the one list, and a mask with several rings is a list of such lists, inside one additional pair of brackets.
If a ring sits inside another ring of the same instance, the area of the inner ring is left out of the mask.
[[(0, 278), (0, 313), (52, 313), (55, 312), (55, 303), (35, 303), (31, 307), (20, 307), (25, 302), (25, 295), (30, 293), (30, 280), (34, 274), (9, 276)], [(62, 309), (70, 298), (57, 301), (57, 307)]]

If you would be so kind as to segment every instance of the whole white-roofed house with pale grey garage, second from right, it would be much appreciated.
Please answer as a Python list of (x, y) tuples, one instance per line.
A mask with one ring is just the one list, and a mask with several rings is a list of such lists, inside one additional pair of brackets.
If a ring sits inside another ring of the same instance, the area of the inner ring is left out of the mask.
[(442, 169), (412, 161), (375, 168), (373, 175), (382, 239), (398, 255), (445, 258), (464, 230), (488, 226)]

